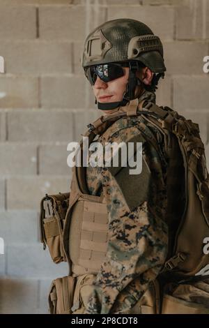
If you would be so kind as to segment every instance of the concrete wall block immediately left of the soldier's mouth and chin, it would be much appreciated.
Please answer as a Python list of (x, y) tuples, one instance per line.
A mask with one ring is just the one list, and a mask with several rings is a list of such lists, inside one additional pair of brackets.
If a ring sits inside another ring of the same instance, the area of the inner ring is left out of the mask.
[(85, 77), (42, 77), (41, 103), (45, 108), (84, 108)]

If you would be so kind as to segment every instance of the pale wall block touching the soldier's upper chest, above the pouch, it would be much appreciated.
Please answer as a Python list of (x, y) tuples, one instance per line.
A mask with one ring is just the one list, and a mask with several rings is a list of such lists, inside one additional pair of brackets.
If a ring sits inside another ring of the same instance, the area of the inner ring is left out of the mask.
[(71, 169), (67, 165), (68, 154), (67, 143), (40, 146), (39, 174), (70, 176)]

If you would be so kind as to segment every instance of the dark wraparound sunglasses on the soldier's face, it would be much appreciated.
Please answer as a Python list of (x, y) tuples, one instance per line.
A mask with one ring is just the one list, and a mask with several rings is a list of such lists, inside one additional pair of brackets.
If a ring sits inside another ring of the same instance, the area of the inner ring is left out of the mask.
[(123, 67), (129, 66), (127, 63), (125, 64), (102, 64), (102, 65), (93, 65), (84, 68), (85, 75), (91, 85), (94, 85), (97, 77), (104, 82), (110, 82), (118, 79), (118, 77), (122, 77), (125, 75), (125, 70)]

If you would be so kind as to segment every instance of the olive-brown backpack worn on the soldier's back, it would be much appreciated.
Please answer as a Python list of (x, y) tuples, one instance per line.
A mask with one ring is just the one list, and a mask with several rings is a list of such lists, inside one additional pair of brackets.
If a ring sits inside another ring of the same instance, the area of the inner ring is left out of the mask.
[[(166, 138), (175, 135), (185, 170), (185, 207), (164, 272), (175, 276), (209, 276), (209, 175), (199, 125), (169, 107), (151, 105), (156, 119), (144, 114)], [(172, 165), (172, 163), (171, 163)]]

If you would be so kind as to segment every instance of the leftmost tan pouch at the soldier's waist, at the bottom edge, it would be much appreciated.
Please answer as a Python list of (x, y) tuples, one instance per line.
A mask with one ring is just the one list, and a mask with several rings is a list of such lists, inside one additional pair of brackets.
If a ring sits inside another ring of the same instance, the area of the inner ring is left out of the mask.
[(52, 281), (49, 291), (49, 311), (51, 314), (71, 314), (76, 278), (64, 276)]

